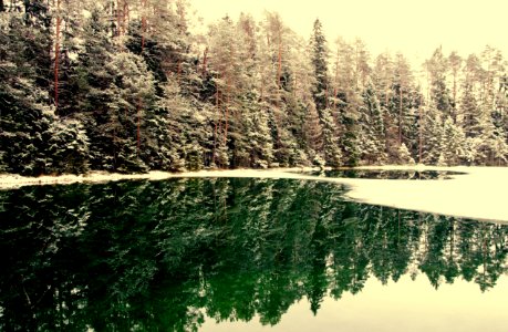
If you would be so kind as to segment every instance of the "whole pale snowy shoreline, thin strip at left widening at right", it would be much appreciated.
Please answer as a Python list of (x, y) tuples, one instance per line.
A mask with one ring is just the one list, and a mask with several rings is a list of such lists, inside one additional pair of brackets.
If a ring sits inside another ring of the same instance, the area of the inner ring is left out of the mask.
[(452, 170), (464, 172), (466, 174), (454, 175), (453, 179), (448, 180), (326, 178), (294, 173), (310, 170), (310, 168), (201, 170), (182, 174), (151, 172), (148, 174), (135, 175), (91, 173), (85, 176), (63, 175), (58, 177), (41, 176), (37, 178), (0, 175), (0, 189), (12, 189), (27, 185), (105, 183), (123, 179), (160, 180), (182, 177), (294, 178), (345, 184), (351, 188), (346, 193), (346, 196), (357, 201), (425, 212), (508, 222), (508, 200), (504, 194), (504, 190), (508, 188), (508, 167), (426, 167), (417, 165), (360, 168), (384, 170)]

